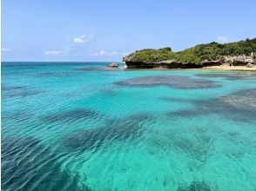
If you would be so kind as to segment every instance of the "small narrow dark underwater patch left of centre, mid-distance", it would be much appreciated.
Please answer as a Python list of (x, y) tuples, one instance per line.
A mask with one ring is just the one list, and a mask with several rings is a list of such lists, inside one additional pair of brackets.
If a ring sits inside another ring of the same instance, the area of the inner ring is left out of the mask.
[(70, 122), (76, 120), (88, 120), (98, 117), (98, 113), (91, 109), (73, 109), (61, 111), (52, 115), (42, 117), (44, 122)]

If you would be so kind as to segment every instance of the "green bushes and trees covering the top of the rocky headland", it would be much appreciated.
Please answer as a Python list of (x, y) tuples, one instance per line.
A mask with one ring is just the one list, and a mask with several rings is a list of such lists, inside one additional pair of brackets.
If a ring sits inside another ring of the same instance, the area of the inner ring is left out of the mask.
[(199, 44), (190, 49), (173, 52), (171, 48), (163, 49), (142, 49), (125, 57), (125, 61), (135, 63), (157, 63), (173, 60), (181, 63), (200, 64), (204, 60), (212, 61), (222, 56), (251, 55), (256, 53), (256, 38), (246, 39), (236, 43), (205, 43)]

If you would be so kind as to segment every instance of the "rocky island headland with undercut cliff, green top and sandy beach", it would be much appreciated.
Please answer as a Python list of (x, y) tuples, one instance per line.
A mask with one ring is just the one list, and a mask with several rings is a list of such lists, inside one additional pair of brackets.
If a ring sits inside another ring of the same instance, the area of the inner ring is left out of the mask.
[(174, 52), (170, 47), (141, 49), (123, 58), (126, 69), (256, 69), (256, 38), (235, 43), (205, 43)]

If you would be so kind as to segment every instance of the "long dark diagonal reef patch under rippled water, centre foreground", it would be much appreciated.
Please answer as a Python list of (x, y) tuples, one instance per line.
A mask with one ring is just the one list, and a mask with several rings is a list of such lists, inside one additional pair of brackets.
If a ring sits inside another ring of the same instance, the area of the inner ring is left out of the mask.
[(105, 122), (104, 127), (83, 129), (64, 136), (65, 148), (72, 151), (107, 146), (113, 141), (132, 141), (143, 135), (142, 123), (149, 120), (148, 115), (132, 115), (127, 119), (113, 119)]

